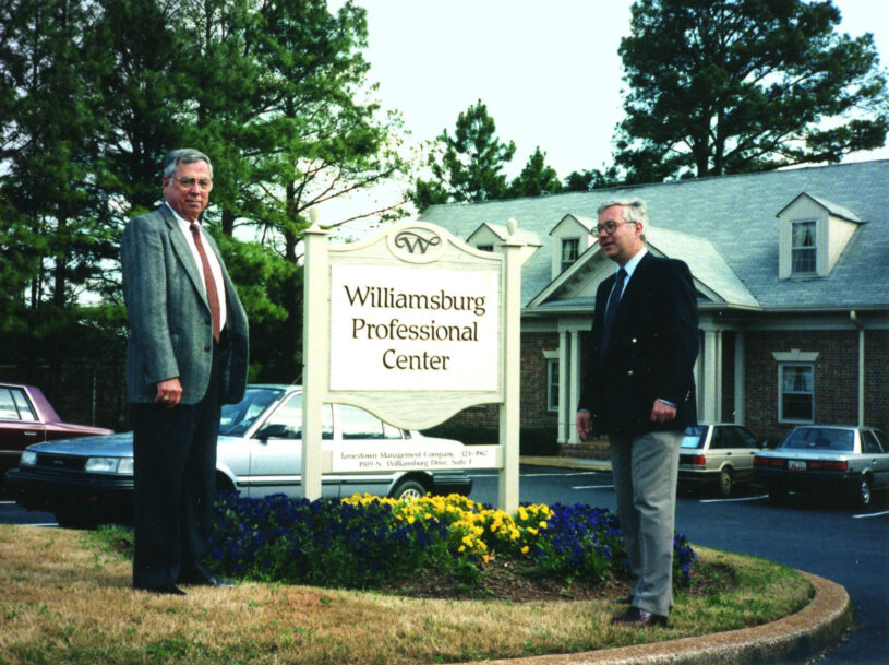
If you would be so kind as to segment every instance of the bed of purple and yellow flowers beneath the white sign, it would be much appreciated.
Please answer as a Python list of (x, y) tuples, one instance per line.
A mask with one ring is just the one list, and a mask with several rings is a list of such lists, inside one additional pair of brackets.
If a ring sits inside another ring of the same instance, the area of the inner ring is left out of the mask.
[[(628, 573), (617, 519), (608, 510), (522, 506), (509, 515), (459, 495), (415, 501), (223, 496), (211, 548), (211, 566), (221, 575), (349, 589), (423, 570), (472, 583), (494, 557), (564, 582)], [(687, 583), (695, 553), (680, 535), (674, 548), (674, 579)]]

